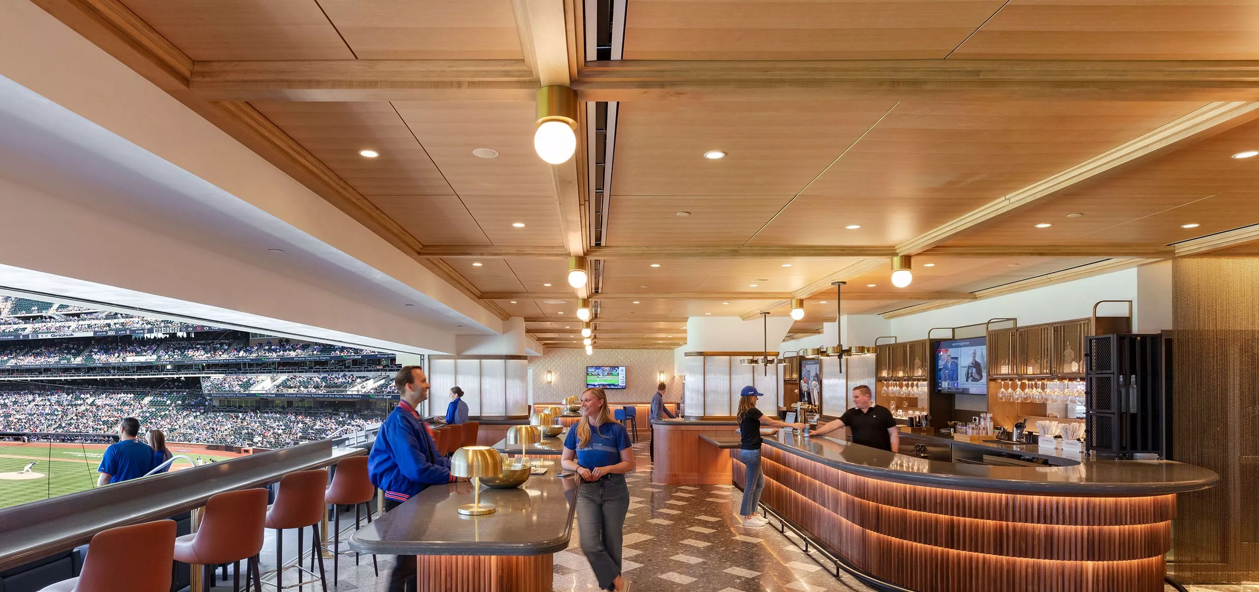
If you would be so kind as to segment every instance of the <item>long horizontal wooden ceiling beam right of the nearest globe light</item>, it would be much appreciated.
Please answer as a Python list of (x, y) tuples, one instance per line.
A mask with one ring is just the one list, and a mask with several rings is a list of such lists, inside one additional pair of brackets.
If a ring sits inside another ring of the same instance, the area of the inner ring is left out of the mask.
[(1259, 101), (1259, 62), (587, 62), (582, 101)]

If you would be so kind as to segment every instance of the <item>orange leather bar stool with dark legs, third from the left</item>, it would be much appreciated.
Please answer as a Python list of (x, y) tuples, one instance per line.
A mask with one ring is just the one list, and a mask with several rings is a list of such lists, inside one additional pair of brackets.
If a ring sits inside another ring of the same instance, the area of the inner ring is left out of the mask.
[[(320, 545), (320, 522), (327, 507), (324, 505), (324, 494), (327, 489), (327, 469), (297, 471), (285, 475), (279, 480), (279, 491), (276, 493), (276, 503), (267, 510), (267, 528), (276, 529), (276, 591), (285, 589), (285, 530), (297, 529), (297, 589), (305, 589), (307, 582), (302, 579), (302, 534), (306, 527), (311, 527), (311, 569), (315, 568), (315, 558), (319, 557), (319, 577), (327, 592), (327, 579), (324, 577), (324, 553)], [(313, 571), (310, 572), (313, 574)]]

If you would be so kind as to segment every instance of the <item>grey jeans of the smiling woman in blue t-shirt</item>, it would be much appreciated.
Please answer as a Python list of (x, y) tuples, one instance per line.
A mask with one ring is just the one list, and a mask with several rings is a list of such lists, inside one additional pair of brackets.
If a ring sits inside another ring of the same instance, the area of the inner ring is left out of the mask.
[(624, 538), (627, 512), (630, 489), (624, 475), (582, 481), (578, 486), (577, 524), (582, 532), (582, 552), (602, 589), (613, 589), (612, 582), (621, 574), (621, 539)]

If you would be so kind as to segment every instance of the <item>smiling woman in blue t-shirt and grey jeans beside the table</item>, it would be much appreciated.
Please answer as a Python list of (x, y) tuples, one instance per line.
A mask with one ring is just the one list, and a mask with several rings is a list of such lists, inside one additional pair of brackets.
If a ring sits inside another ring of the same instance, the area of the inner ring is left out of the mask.
[(560, 464), (580, 476), (577, 520), (582, 551), (590, 562), (601, 589), (630, 589), (621, 576), (621, 539), (630, 489), (626, 473), (633, 471), (633, 449), (623, 425), (612, 419), (603, 388), (582, 392), (582, 419), (568, 430)]

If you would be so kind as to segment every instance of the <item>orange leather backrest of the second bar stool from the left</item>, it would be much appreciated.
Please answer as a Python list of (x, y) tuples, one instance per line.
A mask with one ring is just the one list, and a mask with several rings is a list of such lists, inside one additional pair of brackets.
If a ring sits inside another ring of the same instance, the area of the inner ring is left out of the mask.
[(267, 490), (258, 488), (220, 493), (205, 502), (205, 514), (193, 540), (200, 564), (232, 563), (262, 551), (267, 496)]

